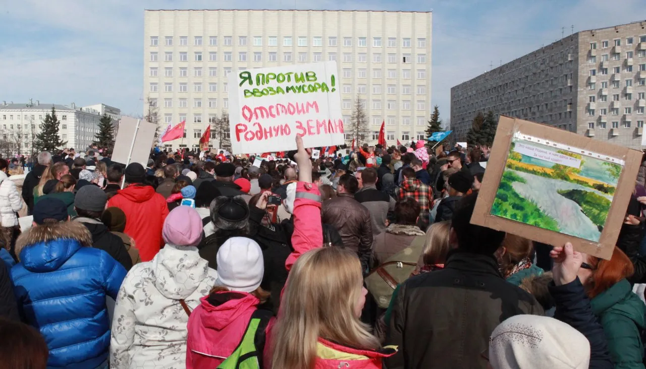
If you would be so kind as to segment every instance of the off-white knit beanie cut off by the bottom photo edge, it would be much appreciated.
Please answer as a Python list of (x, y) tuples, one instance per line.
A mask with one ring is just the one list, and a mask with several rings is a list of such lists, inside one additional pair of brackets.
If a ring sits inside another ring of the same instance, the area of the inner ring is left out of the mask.
[(494, 369), (587, 369), (590, 343), (557, 319), (516, 315), (492, 333), (489, 363)]

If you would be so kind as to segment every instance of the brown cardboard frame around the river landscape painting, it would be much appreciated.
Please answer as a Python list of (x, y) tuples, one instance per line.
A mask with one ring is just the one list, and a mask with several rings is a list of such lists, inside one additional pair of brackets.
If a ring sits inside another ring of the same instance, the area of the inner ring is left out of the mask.
[[(503, 171), (505, 170), (510, 144), (516, 132), (541, 137), (547, 143), (552, 141), (554, 143), (572, 145), (574, 148), (581, 150), (590, 150), (596, 154), (623, 159), (623, 170), (621, 171), (612, 204), (610, 204), (608, 217), (606, 218), (606, 223), (601, 231), (601, 237), (599, 237), (598, 243), (491, 214), (495, 195), (500, 185)], [(574, 250), (608, 260), (612, 257), (612, 251), (617, 243), (621, 224), (623, 224), (625, 219), (630, 195), (634, 189), (637, 172), (641, 165), (641, 155), (640, 151), (593, 140), (554, 126), (541, 125), (539, 123), (501, 115), (498, 121), (498, 128), (495, 132), (494, 145), (492, 146), (491, 154), (487, 162), (485, 177), (483, 178), (478, 199), (475, 203), (474, 214), (471, 217), (471, 223), (519, 235), (541, 243), (560, 246), (570, 242), (574, 246)]]

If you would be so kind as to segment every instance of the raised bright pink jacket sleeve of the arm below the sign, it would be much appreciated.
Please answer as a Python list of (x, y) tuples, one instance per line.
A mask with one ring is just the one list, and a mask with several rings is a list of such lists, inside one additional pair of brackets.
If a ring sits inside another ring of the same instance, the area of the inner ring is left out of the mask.
[(298, 182), (293, 210), (294, 233), (291, 245), (294, 251), (285, 261), (287, 272), (296, 263), (298, 257), (309, 250), (323, 246), (323, 229), (321, 225), (321, 203), (318, 186)]

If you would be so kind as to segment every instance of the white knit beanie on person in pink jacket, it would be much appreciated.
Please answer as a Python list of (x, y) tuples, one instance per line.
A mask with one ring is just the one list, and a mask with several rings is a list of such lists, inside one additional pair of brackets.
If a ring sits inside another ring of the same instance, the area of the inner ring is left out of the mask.
[(247, 237), (231, 237), (220, 246), (217, 284), (231, 291), (253, 292), (265, 272), (260, 246)]

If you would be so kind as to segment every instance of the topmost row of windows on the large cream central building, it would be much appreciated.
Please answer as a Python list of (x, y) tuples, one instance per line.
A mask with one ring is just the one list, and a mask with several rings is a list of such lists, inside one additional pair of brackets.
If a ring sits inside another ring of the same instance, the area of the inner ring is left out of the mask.
[[(188, 46), (189, 45), (189, 37), (188, 36), (180, 36), (180, 46)], [(249, 38), (253, 38), (253, 46), (262, 46), (262, 40), (264, 39), (263, 36), (254, 36), (254, 37), (247, 37), (247, 36), (238, 36), (238, 46), (247, 46), (247, 41)], [(293, 46), (293, 39), (297, 39), (297, 45), (298, 46), (307, 46), (307, 36), (298, 36), (298, 37), (293, 37), (293, 36), (283, 36), (282, 37), (282, 45), (283, 46)], [(164, 45), (165, 46), (173, 46), (173, 36), (164, 36)], [(205, 37), (202, 36), (193, 36), (193, 45), (194, 46), (202, 46), (203, 45), (203, 40)], [(328, 37), (328, 46), (338, 46), (337, 45), (337, 40), (339, 37), (336, 36), (330, 36)], [(352, 46), (352, 39), (353, 37), (343, 37), (343, 46)], [(322, 36), (314, 36), (311, 38), (312, 40), (312, 46), (323, 46), (323, 37)], [(222, 37), (223, 45), (224, 46), (233, 46), (233, 36), (223, 36)], [(385, 44), (388, 47), (397, 47), (397, 37), (387, 37), (384, 39), (385, 43), (382, 43), (382, 37), (372, 37), (372, 46), (373, 47), (382, 47), (383, 44)], [(151, 46), (159, 46), (160, 44), (160, 37), (159, 36), (151, 36)], [(267, 45), (268, 46), (278, 46), (278, 36), (267, 36)], [(410, 48), (411, 47), (411, 38), (410, 37), (403, 37), (401, 39), (401, 47), (402, 48)], [(218, 36), (209, 36), (209, 46), (218, 46)], [(357, 37), (357, 46), (359, 47), (367, 47), (368, 46), (368, 37)], [(425, 38), (418, 38), (417, 39), (417, 47), (418, 48), (426, 48), (426, 39)]]

